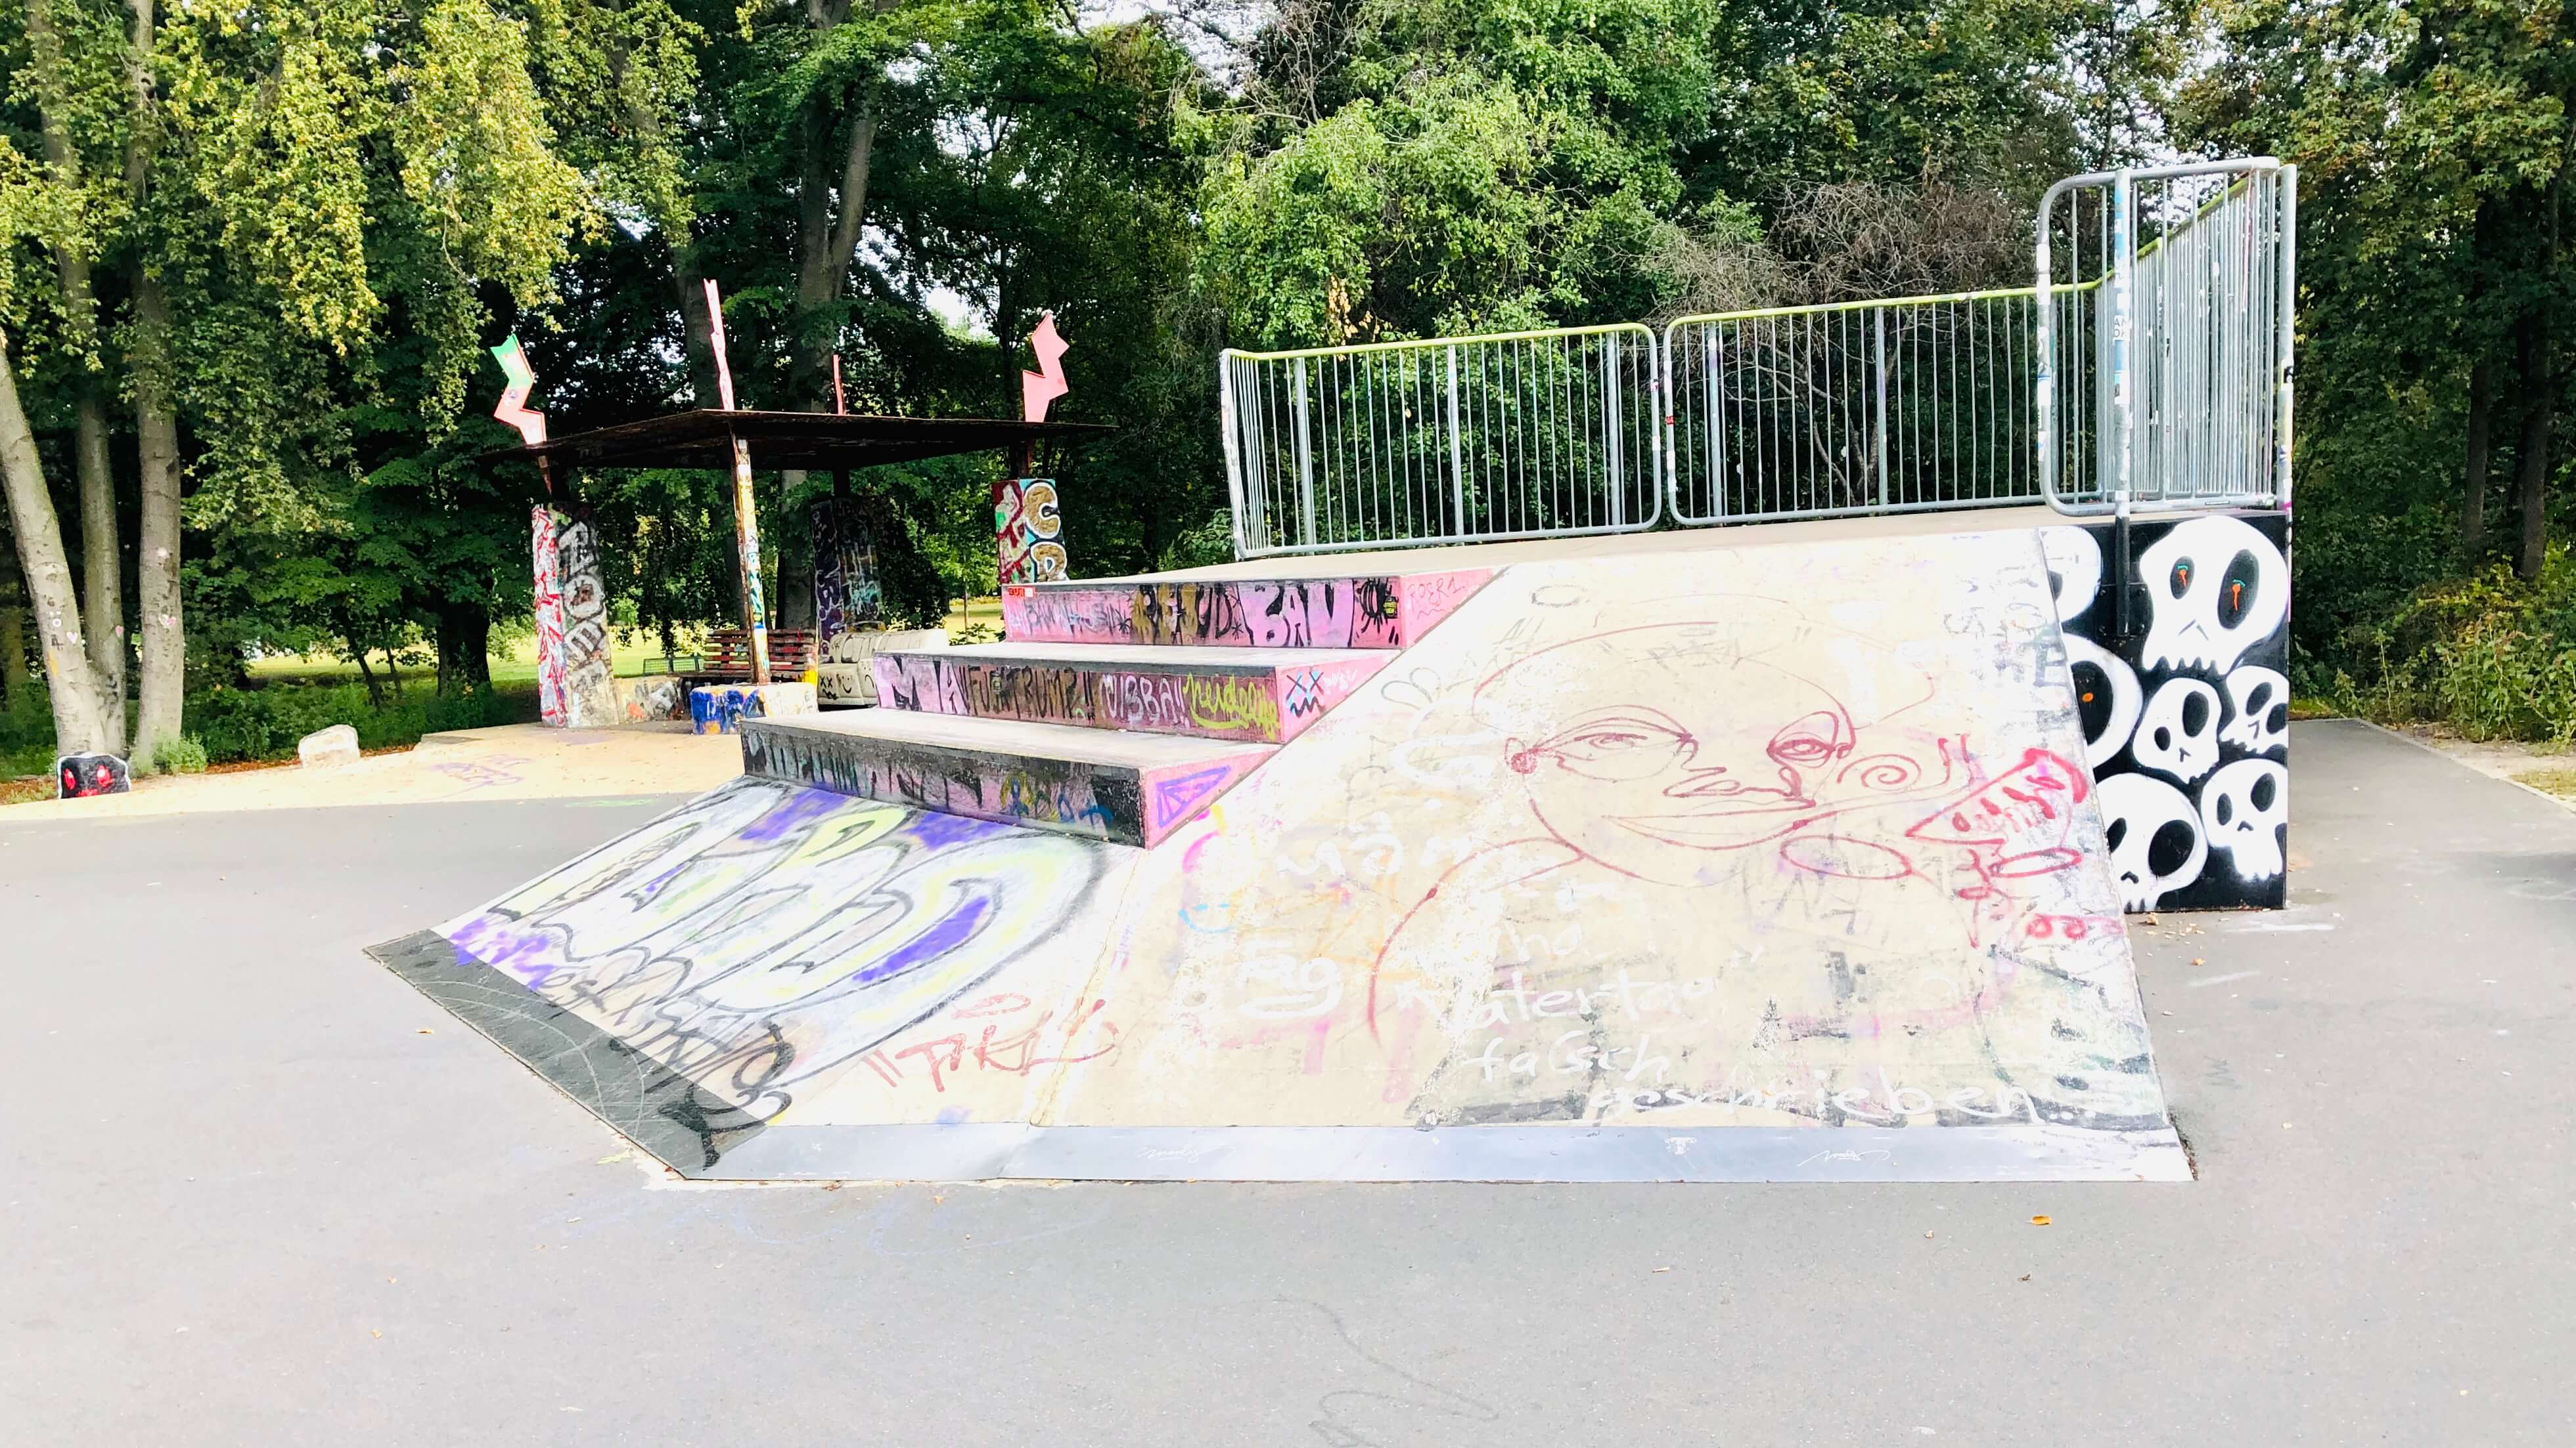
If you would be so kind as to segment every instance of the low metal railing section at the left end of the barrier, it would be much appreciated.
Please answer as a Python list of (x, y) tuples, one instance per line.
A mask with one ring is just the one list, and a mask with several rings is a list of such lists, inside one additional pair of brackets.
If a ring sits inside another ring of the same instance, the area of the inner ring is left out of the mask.
[(1656, 337), (1641, 324), (1226, 350), (1234, 550), (1329, 553), (1662, 522)]

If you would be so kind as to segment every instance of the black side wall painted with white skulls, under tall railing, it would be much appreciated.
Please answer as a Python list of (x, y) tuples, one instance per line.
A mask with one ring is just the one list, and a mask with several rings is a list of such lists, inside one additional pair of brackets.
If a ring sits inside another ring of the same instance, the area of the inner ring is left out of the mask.
[(2066, 661), (2130, 910), (2287, 900), (2287, 520), (2136, 525), (2143, 604), (2112, 638), (2112, 530), (2043, 532)]

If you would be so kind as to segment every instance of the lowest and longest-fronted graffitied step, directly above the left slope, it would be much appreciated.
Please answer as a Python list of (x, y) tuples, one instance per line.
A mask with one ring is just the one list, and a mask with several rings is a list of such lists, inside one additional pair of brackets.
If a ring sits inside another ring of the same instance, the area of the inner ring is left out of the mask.
[(1195, 820), (1275, 748), (884, 707), (742, 725), (744, 774), (1136, 846)]

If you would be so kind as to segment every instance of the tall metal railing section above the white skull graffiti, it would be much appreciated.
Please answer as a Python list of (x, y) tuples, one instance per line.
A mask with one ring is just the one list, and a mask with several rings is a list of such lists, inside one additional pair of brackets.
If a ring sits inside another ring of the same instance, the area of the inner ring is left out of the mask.
[(2048, 188), (2035, 442), (2058, 512), (2287, 507), (2295, 237), (2298, 167), (2269, 157)]

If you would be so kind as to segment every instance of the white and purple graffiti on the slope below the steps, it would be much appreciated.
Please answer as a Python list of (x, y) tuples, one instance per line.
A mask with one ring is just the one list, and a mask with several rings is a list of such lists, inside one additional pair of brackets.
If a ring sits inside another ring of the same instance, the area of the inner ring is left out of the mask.
[(1046, 944), (1103, 849), (737, 779), (446, 934), (765, 1121)]

